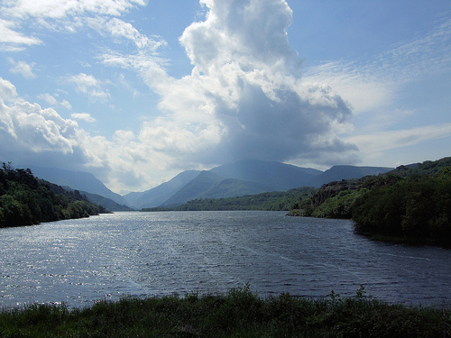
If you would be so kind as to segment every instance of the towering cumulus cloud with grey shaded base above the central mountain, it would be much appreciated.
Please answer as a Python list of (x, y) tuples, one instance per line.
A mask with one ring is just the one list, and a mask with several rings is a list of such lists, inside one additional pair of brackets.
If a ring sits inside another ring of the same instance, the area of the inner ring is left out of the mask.
[(292, 20), (287, 3), (201, 4), (206, 20), (192, 23), (180, 38), (193, 65), (190, 75), (170, 78), (149, 55), (103, 56), (106, 64), (136, 69), (161, 96), (163, 115), (143, 124), (140, 140), (180, 166), (327, 161), (327, 154), (355, 161), (355, 145), (336, 136), (350, 123), (350, 106), (331, 87), (299, 78), (299, 56), (286, 31)]

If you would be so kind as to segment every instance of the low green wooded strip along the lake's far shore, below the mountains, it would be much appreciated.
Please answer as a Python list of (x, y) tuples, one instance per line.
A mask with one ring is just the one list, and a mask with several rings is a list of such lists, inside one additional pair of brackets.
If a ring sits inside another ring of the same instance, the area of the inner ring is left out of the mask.
[(301, 200), (311, 196), (313, 191), (315, 191), (313, 187), (299, 187), (289, 191), (273, 191), (256, 195), (194, 199), (181, 206), (144, 208), (142, 211), (290, 210), (296, 208)]

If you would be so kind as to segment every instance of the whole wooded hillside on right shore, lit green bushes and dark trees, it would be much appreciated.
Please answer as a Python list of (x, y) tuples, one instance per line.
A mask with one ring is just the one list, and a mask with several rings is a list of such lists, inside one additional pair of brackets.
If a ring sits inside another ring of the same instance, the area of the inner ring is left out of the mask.
[(451, 158), (330, 182), (299, 208), (292, 214), (352, 218), (361, 233), (451, 247)]

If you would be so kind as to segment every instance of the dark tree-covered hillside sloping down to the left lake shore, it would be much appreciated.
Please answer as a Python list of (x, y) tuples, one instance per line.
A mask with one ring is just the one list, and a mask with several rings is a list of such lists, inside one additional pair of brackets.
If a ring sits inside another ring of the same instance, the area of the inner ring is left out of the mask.
[(0, 227), (32, 225), (105, 213), (76, 190), (39, 180), (30, 169), (0, 169)]

